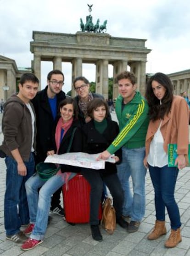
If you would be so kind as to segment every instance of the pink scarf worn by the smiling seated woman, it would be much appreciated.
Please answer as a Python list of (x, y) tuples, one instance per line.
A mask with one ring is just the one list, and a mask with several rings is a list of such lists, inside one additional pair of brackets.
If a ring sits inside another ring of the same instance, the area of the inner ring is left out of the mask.
[[(55, 141), (56, 141), (57, 152), (58, 152), (59, 147), (60, 147), (61, 139), (64, 137), (64, 135), (66, 134), (68, 129), (71, 127), (72, 123), (73, 123), (73, 118), (70, 119), (69, 121), (67, 121), (66, 123), (63, 123), (62, 118), (60, 118), (59, 121), (57, 122), (56, 133), (55, 133)], [(64, 130), (62, 138), (61, 138), (61, 129)], [(56, 152), (56, 154), (57, 154), (57, 152)], [(71, 175), (71, 173), (61, 173), (61, 169), (60, 169), (58, 171), (57, 175), (62, 176), (62, 179), (65, 181), (66, 190), (67, 190), (68, 189), (68, 179), (69, 179), (69, 176)]]

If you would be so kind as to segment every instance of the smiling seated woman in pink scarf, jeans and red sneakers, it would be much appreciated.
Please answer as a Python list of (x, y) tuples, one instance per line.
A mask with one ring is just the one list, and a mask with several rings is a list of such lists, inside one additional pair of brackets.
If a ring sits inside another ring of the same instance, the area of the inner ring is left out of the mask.
[[(82, 134), (78, 127), (78, 107), (72, 98), (66, 98), (60, 103), (60, 117), (57, 119), (52, 139), (52, 149), (47, 155), (67, 153), (70, 141), (73, 137), (69, 152), (80, 152), (82, 149)], [(74, 130), (74, 136), (73, 136)], [(50, 211), (51, 195), (69, 179), (72, 179), (80, 168), (61, 165), (56, 175), (44, 181), (35, 173), (26, 183), (30, 224), (25, 229), (25, 234), (30, 238), (22, 244), (22, 250), (31, 250), (41, 244), (45, 237), (48, 214)], [(38, 189), (41, 187), (39, 193)]]

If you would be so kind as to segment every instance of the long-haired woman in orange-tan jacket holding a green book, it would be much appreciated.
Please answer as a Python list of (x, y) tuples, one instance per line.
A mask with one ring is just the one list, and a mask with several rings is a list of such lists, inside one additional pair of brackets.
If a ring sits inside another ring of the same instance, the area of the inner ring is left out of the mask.
[[(149, 168), (156, 208), (156, 223), (148, 239), (154, 240), (166, 234), (167, 208), (171, 234), (165, 246), (172, 248), (181, 242), (181, 222), (174, 190), (179, 170), (185, 167), (185, 155), (188, 155), (189, 108), (181, 96), (173, 95), (173, 85), (163, 73), (156, 73), (149, 79), (146, 99), (150, 107), (150, 123), (146, 134), (144, 165)], [(176, 167), (168, 167), (169, 143), (178, 147)]]

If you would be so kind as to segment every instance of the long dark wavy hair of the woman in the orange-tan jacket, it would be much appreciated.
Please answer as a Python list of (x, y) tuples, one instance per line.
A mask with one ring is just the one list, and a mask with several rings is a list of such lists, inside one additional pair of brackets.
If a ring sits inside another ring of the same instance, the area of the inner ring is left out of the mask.
[[(152, 81), (160, 83), (166, 89), (165, 95), (162, 98), (162, 104), (160, 104), (160, 100), (154, 95)], [(145, 97), (150, 107), (150, 119), (153, 121), (160, 118), (163, 119), (164, 115), (169, 113), (173, 101), (173, 85), (169, 77), (161, 72), (150, 77), (147, 83)]]

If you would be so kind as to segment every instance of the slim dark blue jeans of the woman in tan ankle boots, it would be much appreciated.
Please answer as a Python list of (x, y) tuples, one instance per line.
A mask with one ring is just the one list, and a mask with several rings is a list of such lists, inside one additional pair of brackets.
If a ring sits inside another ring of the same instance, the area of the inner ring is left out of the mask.
[(156, 220), (165, 220), (165, 208), (167, 208), (171, 228), (179, 228), (181, 226), (179, 208), (174, 198), (178, 168), (149, 165), (149, 172), (155, 192)]

